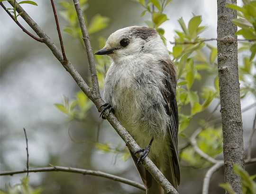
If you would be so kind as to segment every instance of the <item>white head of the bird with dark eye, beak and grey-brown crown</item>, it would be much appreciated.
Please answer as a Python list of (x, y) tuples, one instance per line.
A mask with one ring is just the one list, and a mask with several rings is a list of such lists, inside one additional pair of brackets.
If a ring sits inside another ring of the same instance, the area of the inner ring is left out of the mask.
[(159, 59), (169, 57), (165, 44), (155, 29), (130, 26), (110, 34), (104, 48), (95, 54), (108, 55), (115, 61), (143, 53), (153, 54)]

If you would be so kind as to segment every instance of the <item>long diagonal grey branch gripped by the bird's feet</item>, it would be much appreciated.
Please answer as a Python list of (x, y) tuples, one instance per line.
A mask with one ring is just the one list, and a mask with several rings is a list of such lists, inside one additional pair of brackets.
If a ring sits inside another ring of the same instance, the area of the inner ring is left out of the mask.
[[(8, 1), (8, 2), (13, 6), (13, 3), (11, 1)], [(18, 13), (23, 11), (23, 14), (21, 14), (21, 17), (37, 33), (37, 35), (40, 38), (42, 38), (43, 42), (53, 52), (56, 59), (58, 59), (60, 63), (63, 65), (63, 67), (70, 73), (70, 75), (73, 77), (73, 79), (81, 88), (81, 90), (88, 96), (89, 99), (91, 99), (91, 101), (93, 101), (93, 103), (96, 105), (98, 110), (101, 111), (102, 108), (100, 107), (104, 103), (104, 101), (101, 99), (100, 93), (94, 93), (93, 90), (91, 91), (90, 87), (85, 83), (85, 81), (82, 79), (82, 76), (76, 71), (76, 69), (69, 62), (69, 60), (63, 59), (61, 51), (56, 47), (54, 42), (52, 42), (52, 40), (44, 33), (44, 31), (40, 28), (40, 26), (37, 25), (37, 23), (31, 17), (29, 17), (29, 15), (24, 11), (23, 8), (21, 8), (20, 5), (16, 6), (16, 10), (18, 11)], [(91, 51), (91, 49), (89, 49), (89, 51)], [(110, 125), (117, 131), (119, 136), (126, 143), (126, 146), (132, 152), (135, 152), (138, 149), (140, 149), (140, 147), (134, 141), (132, 136), (120, 124), (118, 119), (112, 113), (110, 113), (110, 115), (107, 116), (106, 118), (110, 122)], [(174, 186), (172, 186), (172, 184), (165, 178), (162, 172), (155, 166), (155, 164), (148, 157), (145, 158), (145, 160), (143, 161), (143, 164), (146, 167), (146, 169), (150, 172), (150, 174), (155, 178), (155, 180), (165, 189), (167, 194), (178, 194)]]

